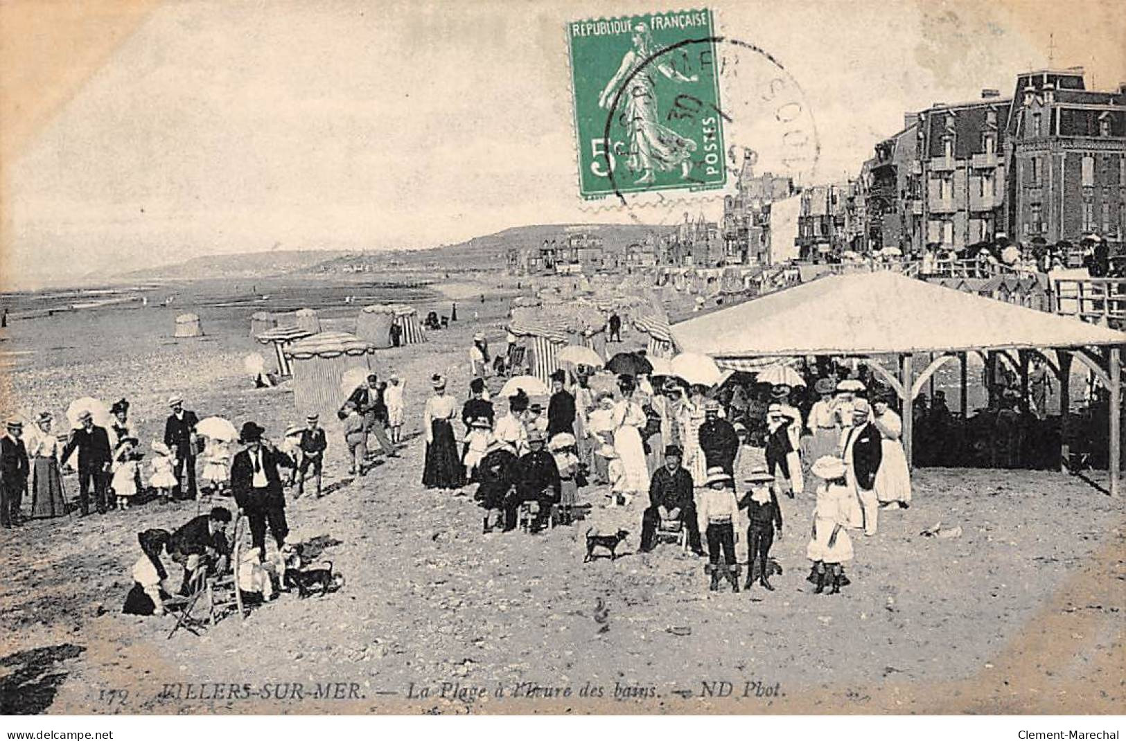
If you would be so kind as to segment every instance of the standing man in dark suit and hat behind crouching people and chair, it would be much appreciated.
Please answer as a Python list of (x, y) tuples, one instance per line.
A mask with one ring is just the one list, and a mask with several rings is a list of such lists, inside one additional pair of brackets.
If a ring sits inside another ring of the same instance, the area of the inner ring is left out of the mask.
[(236, 453), (231, 462), (231, 493), (247, 516), (251, 544), (259, 548), (259, 556), (265, 557), (267, 523), (278, 548), (289, 534), (285, 521), (282, 476), (278, 474), (278, 462), (288, 456), (262, 443), (262, 428), (254, 422), (242, 426), (239, 441), (247, 447)]

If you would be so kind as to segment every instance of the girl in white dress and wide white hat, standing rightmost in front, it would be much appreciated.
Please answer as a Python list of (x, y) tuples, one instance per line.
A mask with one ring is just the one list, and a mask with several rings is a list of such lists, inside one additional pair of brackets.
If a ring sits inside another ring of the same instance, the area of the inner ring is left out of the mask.
[(852, 560), (852, 539), (848, 536), (849, 502), (856, 494), (844, 481), (844, 463), (840, 458), (822, 456), (814, 462), (812, 472), (823, 483), (817, 486), (813, 532), (805, 548), (805, 556), (813, 562), (808, 579), (817, 584), (815, 593), (820, 595), (829, 583), (829, 593), (835, 595), (849, 583), (844, 577), (844, 563)]

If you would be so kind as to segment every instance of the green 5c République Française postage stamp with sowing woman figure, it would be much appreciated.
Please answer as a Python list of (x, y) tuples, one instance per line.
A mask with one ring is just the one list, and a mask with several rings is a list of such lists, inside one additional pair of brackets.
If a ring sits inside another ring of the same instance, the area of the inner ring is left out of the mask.
[(568, 47), (583, 198), (723, 187), (711, 10), (574, 21)]

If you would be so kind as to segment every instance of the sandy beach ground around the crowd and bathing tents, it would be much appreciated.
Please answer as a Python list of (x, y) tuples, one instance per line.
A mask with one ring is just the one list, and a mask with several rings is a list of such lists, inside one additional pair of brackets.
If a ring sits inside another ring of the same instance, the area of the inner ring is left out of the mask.
[[(171, 617), (124, 616), (120, 606), (136, 533), (177, 527), (194, 502), (5, 532), (5, 712), (1120, 711), (1126, 519), (1120, 502), (1064, 474), (918, 471), (912, 507), (882, 514), (878, 536), (855, 538), (852, 584), (839, 596), (805, 581), (813, 502), (801, 497), (781, 505), (774, 592), (709, 593), (703, 561), (674, 545), (637, 554), (644, 502), (602, 509), (599, 490), (580, 493), (595, 505), (587, 521), (482, 535), (472, 497), (422, 488), (413, 437), (429, 375), (446, 373), (463, 400), (472, 333), (503, 345), (507, 300), (493, 289), (484, 304), (468, 301), (481, 292), (443, 286), (434, 307), (457, 300), (461, 321), (375, 356), (382, 376), (408, 380), (403, 457), (352, 481), (329, 426), (328, 496), (288, 503), (294, 533), (346, 574), (340, 591), (285, 593), (245, 621), (167, 640)], [(178, 310), (14, 322), (5, 349), (30, 355), (0, 374), (0, 394), (60, 419), (79, 395), (127, 396), (144, 438), (159, 435), (172, 392), (200, 417), (253, 419), (268, 436), (297, 421), (288, 384), (256, 390), (242, 370), (247, 352), (268, 357), (249, 337), (249, 311), (200, 312), (206, 336), (175, 340)], [(348, 331), (357, 310), (327, 312), (324, 328)], [(73, 476), (66, 485), (73, 493)], [(920, 535), (937, 521), (962, 536)], [(583, 564), (590, 526), (628, 529), (624, 557)]]

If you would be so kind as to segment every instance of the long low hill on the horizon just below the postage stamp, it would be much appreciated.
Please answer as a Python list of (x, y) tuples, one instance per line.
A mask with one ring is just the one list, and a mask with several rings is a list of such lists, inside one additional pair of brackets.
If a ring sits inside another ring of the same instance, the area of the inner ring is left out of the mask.
[(323, 260), (314, 273), (348, 273), (363, 264), (377, 262), (385, 269), (443, 268), (445, 270), (494, 269), (503, 266), (509, 248), (543, 244), (544, 240), (563, 241), (569, 234), (597, 234), (605, 249), (624, 251), (627, 244), (641, 241), (651, 232), (668, 227), (643, 224), (538, 224), (512, 226), (495, 234), (474, 236), (457, 244), (444, 244), (426, 250), (350, 252)]

